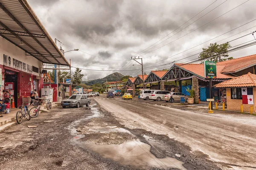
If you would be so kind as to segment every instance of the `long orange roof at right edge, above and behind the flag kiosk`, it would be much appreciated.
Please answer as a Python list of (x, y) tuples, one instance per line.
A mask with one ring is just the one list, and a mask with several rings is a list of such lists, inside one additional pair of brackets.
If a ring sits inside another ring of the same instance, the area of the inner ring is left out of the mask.
[(252, 65), (256, 65), (256, 54), (241, 57), (237, 59), (230, 59), (227, 61), (218, 62), (217, 65), (225, 65), (221, 73), (237, 72), (241, 69), (248, 68)]

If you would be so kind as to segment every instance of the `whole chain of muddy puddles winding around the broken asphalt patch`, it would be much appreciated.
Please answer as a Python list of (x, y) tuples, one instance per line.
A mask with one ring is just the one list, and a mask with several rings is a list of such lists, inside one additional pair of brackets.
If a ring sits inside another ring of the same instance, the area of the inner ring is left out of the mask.
[[(185, 167), (183, 167), (183, 162), (178, 161), (175, 158), (166, 157), (163, 159), (158, 159), (150, 152), (151, 146), (144, 142), (140, 142), (139, 139), (130, 139), (122, 142), (121, 144), (95, 144), (93, 142), (88, 142), (88, 140), (84, 141), (83, 139), (85, 139), (85, 135), (77, 132), (77, 125), (88, 119), (104, 117), (104, 114), (100, 113), (99, 108), (94, 106), (95, 105), (90, 106), (93, 115), (87, 116), (84, 119), (79, 119), (70, 125), (70, 132), (74, 136), (71, 142), (79, 144), (80, 147), (88, 148), (98, 153), (103, 158), (112, 159), (113, 161), (119, 162), (119, 164), (122, 165), (133, 166), (140, 169), (151, 169), (152, 167), (155, 167), (166, 170), (170, 168), (187, 170)], [(92, 127), (87, 128), (87, 130), (92, 132), (93, 135), (97, 133), (105, 133), (106, 136), (112, 133), (125, 133), (127, 135), (129, 134), (130, 136), (132, 135), (128, 130), (116, 126), (108, 125), (101, 127), (100, 125), (97, 126), (93, 124)], [(118, 138), (118, 135), (115, 137)], [(152, 140), (149, 136), (144, 135), (143, 137), (146, 140)]]

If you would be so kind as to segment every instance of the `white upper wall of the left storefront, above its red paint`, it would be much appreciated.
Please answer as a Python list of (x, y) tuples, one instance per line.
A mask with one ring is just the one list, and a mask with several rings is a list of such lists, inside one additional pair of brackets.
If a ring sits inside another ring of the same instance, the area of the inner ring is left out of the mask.
[[(4, 55), (6, 61), (4, 63)], [(24, 71), (28, 74), (40, 76), (40, 73), (32, 72), (32, 66), (39, 69), (43, 67), (43, 63), (32, 56), (26, 56), (26, 52), (18, 48), (8, 40), (0, 37), (0, 65), (5, 65), (10, 68), (14, 68), (20, 71)]]

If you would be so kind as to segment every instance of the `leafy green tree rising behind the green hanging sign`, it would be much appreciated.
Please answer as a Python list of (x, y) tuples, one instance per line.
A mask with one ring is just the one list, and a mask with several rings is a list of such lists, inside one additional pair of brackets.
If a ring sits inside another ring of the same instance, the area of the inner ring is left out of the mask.
[[(215, 62), (221, 62), (226, 61), (227, 59), (233, 59), (233, 57), (228, 57), (228, 48), (230, 48), (231, 45), (229, 42), (226, 42), (224, 44), (218, 45), (216, 42), (214, 44), (210, 44), (207, 48), (203, 48), (203, 51), (199, 54), (199, 59), (206, 60), (206, 61), (215, 61)], [(201, 63), (204, 63), (202, 61)]]

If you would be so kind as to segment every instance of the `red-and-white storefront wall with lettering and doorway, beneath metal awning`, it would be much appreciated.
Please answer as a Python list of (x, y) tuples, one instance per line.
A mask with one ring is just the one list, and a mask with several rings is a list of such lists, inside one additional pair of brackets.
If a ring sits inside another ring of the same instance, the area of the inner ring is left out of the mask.
[(18, 48), (11, 42), (0, 37), (0, 69), (2, 72), (1, 92), (8, 90), (13, 96), (15, 108), (22, 104), (22, 97), (30, 96), (31, 92), (38, 90), (40, 94), (43, 77), (40, 68), (43, 63)]

